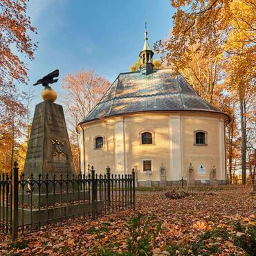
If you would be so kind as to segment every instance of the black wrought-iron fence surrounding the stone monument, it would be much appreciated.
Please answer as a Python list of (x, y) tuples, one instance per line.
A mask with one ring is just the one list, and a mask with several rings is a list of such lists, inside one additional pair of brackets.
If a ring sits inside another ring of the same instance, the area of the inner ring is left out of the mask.
[[(57, 179), (58, 178), (58, 179)], [(113, 175), (50, 176), (31, 174), (18, 177), (17, 162), (12, 174), (0, 174), (0, 232), (33, 232), (62, 221), (95, 219), (102, 214), (135, 209), (135, 172)]]

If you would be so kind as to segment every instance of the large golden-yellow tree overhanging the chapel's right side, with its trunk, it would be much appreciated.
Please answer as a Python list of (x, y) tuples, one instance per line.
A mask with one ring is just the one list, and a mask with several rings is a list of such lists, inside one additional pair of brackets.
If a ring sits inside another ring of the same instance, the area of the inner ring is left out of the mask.
[(245, 184), (248, 100), (255, 98), (255, 1), (172, 0), (172, 6), (176, 8), (174, 27), (170, 37), (156, 43), (156, 52), (162, 54), (163, 62), (185, 74), (199, 95), (216, 107), (221, 100), (214, 99), (226, 93), (239, 99)]

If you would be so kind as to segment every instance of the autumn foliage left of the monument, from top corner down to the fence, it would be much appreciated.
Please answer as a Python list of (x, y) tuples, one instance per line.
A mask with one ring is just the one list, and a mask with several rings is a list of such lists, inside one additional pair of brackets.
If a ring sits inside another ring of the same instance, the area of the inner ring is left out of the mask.
[(26, 83), (28, 68), (21, 55), (33, 60), (37, 48), (30, 39), (36, 31), (26, 15), (27, 2), (0, 0), (0, 172), (10, 172), (15, 159), (22, 170), (26, 154), (28, 94), (15, 82)]

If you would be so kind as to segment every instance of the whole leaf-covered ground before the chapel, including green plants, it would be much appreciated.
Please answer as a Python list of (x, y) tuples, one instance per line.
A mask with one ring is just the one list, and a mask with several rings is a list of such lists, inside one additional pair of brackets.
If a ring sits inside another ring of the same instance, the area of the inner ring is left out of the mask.
[(15, 244), (0, 237), (0, 255), (256, 255), (251, 191), (197, 189), (179, 199), (138, 192), (135, 212), (69, 222), (20, 236)]

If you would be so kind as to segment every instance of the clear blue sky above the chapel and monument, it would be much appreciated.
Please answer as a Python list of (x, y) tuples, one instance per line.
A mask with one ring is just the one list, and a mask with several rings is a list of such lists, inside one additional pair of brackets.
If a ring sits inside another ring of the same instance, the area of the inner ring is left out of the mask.
[[(173, 14), (170, 0), (30, 0), (28, 15), (39, 44), (35, 60), (26, 60), (30, 82), (19, 88), (26, 91), (55, 68), (60, 69), (60, 80), (53, 85), (58, 94), (63, 93), (62, 77), (82, 69), (93, 69), (113, 82), (138, 60), (145, 21), (153, 48), (167, 37)], [(37, 86), (32, 109), (42, 101), (40, 91), (42, 86)]]

